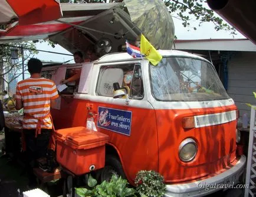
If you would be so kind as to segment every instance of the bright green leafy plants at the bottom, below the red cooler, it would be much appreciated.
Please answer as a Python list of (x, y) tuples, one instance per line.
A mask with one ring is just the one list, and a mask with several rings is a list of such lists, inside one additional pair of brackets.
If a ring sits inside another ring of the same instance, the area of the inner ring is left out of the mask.
[(93, 189), (86, 189), (86, 188), (76, 188), (76, 193), (81, 196), (91, 196), (91, 197), (126, 197), (126, 196), (134, 196), (136, 190), (133, 188), (129, 188), (129, 183), (127, 180), (122, 179), (121, 176), (117, 177), (113, 175), (111, 177), (110, 182), (103, 181), (100, 185), (97, 185), (96, 179), (93, 179), (91, 175), (88, 179), (88, 186)]

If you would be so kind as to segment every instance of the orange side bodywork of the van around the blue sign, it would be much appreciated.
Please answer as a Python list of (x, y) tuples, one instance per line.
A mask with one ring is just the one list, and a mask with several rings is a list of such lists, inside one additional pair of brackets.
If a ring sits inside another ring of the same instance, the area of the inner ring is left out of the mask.
[[(86, 103), (93, 104), (92, 111), (97, 114), (98, 107), (132, 111), (131, 135), (126, 136), (103, 128), (99, 132), (109, 135), (109, 143), (117, 148), (124, 173), (129, 182), (133, 183), (138, 171), (152, 169), (158, 171), (158, 143), (156, 114), (153, 109), (132, 108), (130, 106), (110, 105), (107, 103), (89, 102), (73, 99), (61, 100), (61, 110), (52, 109), (52, 118), (56, 129), (74, 126), (86, 126), (88, 110)], [(136, 116), (134, 116), (136, 114)], [(137, 121), (135, 121), (137, 119)], [(96, 126), (97, 122), (95, 121)]]

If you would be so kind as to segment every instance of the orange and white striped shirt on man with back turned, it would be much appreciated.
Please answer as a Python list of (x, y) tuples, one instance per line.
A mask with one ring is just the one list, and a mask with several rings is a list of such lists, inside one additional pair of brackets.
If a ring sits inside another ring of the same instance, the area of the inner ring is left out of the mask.
[[(28, 78), (18, 82), (16, 95), (16, 99), (23, 102), (23, 128), (36, 129), (38, 118), (50, 115), (51, 99), (58, 98), (58, 91), (50, 79)], [(52, 129), (50, 117), (44, 118), (42, 122), (42, 129)]]

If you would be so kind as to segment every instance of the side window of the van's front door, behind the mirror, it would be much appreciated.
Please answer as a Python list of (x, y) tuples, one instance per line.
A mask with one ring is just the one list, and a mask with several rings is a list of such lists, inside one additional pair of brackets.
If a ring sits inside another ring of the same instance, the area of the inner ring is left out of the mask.
[(113, 84), (118, 82), (120, 87), (128, 86), (129, 98), (143, 98), (142, 71), (140, 65), (102, 66), (97, 83), (96, 94), (113, 97)]

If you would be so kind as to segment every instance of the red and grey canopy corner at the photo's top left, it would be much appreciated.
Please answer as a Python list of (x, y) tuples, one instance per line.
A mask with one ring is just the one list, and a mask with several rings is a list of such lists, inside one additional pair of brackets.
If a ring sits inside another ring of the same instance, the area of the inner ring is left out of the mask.
[(0, 24), (37, 24), (61, 18), (58, 0), (0, 0)]

